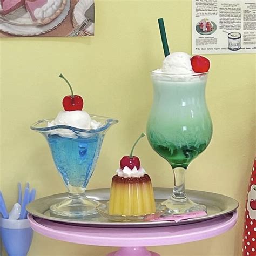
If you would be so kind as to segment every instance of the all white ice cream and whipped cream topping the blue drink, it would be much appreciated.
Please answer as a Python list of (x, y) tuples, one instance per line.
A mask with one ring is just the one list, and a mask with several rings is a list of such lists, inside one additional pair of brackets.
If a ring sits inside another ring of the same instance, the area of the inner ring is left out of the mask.
[[(79, 129), (97, 129), (102, 123), (92, 120), (90, 115), (81, 110), (60, 111), (55, 120), (48, 122), (48, 127), (55, 125), (68, 125)], [(51, 135), (57, 134), (62, 137), (77, 138), (75, 132), (69, 129), (55, 129), (50, 131)]]

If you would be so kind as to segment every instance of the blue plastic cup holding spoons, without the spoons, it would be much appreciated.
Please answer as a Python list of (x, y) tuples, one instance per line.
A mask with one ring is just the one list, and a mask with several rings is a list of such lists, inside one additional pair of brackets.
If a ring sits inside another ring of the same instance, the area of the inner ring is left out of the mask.
[(33, 239), (28, 219), (1, 221), (3, 245), (9, 256), (26, 256)]

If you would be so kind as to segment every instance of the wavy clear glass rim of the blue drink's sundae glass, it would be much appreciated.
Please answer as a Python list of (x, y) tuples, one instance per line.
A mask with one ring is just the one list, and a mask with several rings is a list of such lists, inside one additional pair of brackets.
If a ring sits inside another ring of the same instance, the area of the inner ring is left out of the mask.
[(45, 127), (37, 127), (39, 124), (42, 124), (43, 122), (51, 122), (53, 120), (55, 120), (55, 118), (49, 118), (49, 119), (41, 119), (38, 120), (37, 122), (33, 123), (30, 126), (30, 129), (33, 131), (38, 131), (38, 132), (49, 132), (49, 131), (53, 131), (56, 129), (68, 129), (71, 130), (73, 132), (84, 132), (84, 133), (99, 133), (102, 131), (105, 131), (107, 128), (109, 128), (112, 124), (116, 124), (118, 123), (117, 119), (113, 119), (110, 117), (104, 117), (104, 116), (97, 116), (95, 114), (89, 114), (90, 117), (93, 118), (99, 118), (99, 119), (103, 119), (105, 120), (105, 124), (103, 126), (100, 126), (98, 128), (94, 128), (94, 129), (80, 129), (77, 127), (73, 127), (73, 126), (69, 126), (69, 125), (53, 125), (53, 126), (45, 126)]

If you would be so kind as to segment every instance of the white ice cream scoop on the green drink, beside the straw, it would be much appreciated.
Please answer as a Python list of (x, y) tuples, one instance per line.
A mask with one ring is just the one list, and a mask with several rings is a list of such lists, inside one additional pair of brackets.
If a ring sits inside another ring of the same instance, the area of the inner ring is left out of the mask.
[(177, 75), (194, 73), (190, 58), (185, 52), (173, 52), (165, 57), (161, 72)]

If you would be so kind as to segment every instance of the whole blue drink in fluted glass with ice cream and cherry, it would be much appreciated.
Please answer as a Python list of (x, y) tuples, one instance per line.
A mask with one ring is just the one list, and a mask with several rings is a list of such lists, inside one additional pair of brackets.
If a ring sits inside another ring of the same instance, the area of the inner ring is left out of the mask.
[(105, 133), (117, 120), (93, 116), (83, 111), (83, 99), (73, 95), (63, 98), (65, 111), (55, 119), (44, 119), (31, 126), (46, 138), (53, 161), (69, 190), (68, 197), (50, 207), (52, 215), (85, 218), (96, 214), (99, 204), (86, 197), (85, 189), (99, 157)]

